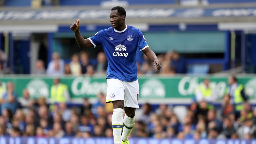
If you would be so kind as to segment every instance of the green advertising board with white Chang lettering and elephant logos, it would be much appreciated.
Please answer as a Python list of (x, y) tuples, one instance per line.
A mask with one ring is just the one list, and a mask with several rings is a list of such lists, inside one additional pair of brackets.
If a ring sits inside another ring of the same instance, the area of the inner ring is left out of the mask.
[[(195, 88), (204, 77), (197, 76), (150, 76), (139, 77), (140, 99), (166, 99), (194, 97)], [(209, 76), (210, 86), (215, 90), (218, 99), (221, 99), (228, 87), (227, 76)], [(99, 92), (106, 93), (105, 77), (61, 77), (61, 82), (68, 85), (71, 98), (96, 98)], [(28, 89), (31, 97), (49, 97), (53, 84), (51, 77), (33, 76), (6, 76), (0, 78), (2, 86), (8, 81), (15, 85), (19, 97), (23, 89)], [(245, 86), (245, 93), (250, 99), (256, 98), (256, 76), (239, 76), (238, 82)]]

